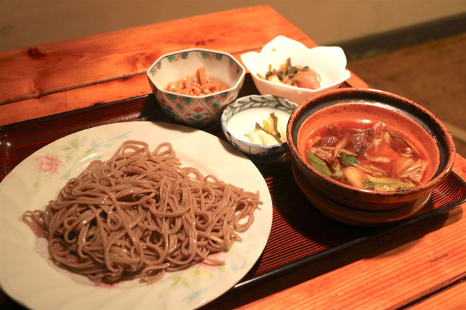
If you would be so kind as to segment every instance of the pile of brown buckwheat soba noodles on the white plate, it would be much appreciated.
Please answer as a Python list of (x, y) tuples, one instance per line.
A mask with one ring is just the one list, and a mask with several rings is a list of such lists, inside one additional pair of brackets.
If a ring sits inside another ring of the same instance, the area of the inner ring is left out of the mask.
[(45, 211), (23, 220), (46, 237), (53, 261), (95, 283), (140, 278), (153, 283), (241, 241), (259, 194), (182, 167), (169, 143), (151, 152), (123, 142), (70, 179)]

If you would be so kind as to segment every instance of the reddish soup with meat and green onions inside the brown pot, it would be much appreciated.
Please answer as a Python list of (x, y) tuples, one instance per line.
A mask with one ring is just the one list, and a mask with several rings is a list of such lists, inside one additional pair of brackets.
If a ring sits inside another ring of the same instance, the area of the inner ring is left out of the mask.
[(356, 188), (396, 192), (430, 173), (426, 153), (384, 122), (341, 120), (312, 131), (304, 157), (319, 172)]

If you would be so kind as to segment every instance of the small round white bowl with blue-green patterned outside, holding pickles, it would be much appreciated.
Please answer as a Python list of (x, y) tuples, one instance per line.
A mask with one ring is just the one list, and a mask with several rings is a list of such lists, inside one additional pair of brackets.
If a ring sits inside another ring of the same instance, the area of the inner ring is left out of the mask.
[(256, 122), (262, 124), (262, 120), (267, 119), (271, 112), (278, 117), (278, 124), (286, 129), (296, 107), (295, 103), (271, 94), (244, 96), (223, 110), (221, 127), (228, 142), (253, 159), (278, 159), (288, 151), (286, 142), (270, 146), (254, 144), (245, 134), (254, 130)]

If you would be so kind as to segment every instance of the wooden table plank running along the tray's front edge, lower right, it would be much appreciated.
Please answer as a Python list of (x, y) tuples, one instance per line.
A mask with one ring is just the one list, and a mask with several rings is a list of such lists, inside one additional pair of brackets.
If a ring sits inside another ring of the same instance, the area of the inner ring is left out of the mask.
[(465, 211), (457, 207), (238, 296), (225, 294), (206, 309), (397, 309), (464, 276)]

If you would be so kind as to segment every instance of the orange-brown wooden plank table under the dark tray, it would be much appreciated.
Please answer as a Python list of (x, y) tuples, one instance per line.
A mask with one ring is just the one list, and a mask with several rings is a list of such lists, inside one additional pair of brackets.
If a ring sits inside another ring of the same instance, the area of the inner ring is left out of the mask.
[[(258, 51), (282, 34), (317, 44), (267, 5), (0, 53), (0, 126), (151, 92), (149, 65), (169, 51)], [(350, 86), (365, 88), (356, 75)], [(466, 159), (454, 172), (466, 178)], [(221, 309), (465, 309), (466, 204), (282, 274)], [(1, 296), (1, 295), (0, 295)], [(5, 296), (0, 298), (5, 299)]]

